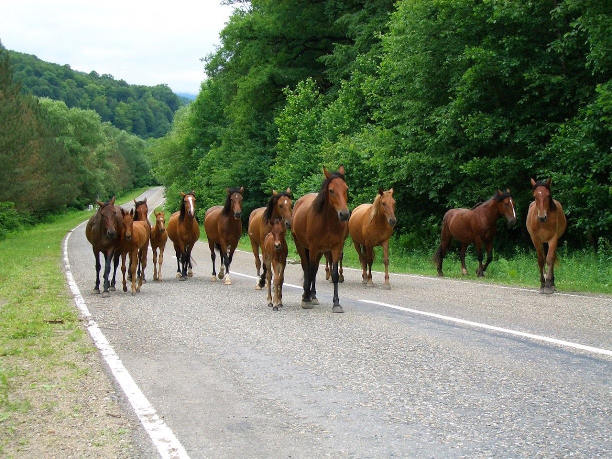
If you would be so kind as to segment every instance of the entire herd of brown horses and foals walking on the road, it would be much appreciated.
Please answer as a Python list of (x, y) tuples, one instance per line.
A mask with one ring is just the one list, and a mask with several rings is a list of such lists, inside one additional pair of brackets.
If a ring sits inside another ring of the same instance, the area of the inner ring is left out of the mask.
[[(257, 271), (255, 288), (260, 290), (267, 286), (267, 302), (272, 310), (283, 307), (283, 278), (288, 256), (287, 231), (291, 231), (304, 272), (302, 308), (310, 309), (319, 304), (316, 297), (316, 274), (321, 258), (325, 256), (326, 278), (331, 278), (334, 284), (332, 312), (344, 312), (338, 297), (338, 283), (343, 282), (341, 259), (349, 235), (359, 255), (362, 282), (366, 286), (374, 286), (371, 273), (374, 248), (383, 247), (383, 286), (390, 287), (389, 239), (397, 223), (393, 188), (379, 188), (373, 203), (360, 204), (353, 212), (349, 212), (344, 167), (340, 166), (336, 172), (329, 172), (323, 167), (323, 175), (318, 193), (301, 196), (293, 204), (290, 188), (280, 193), (273, 190), (267, 206), (255, 209), (248, 218), (247, 233)], [(551, 179), (531, 179), (531, 186), (534, 201), (529, 205), (526, 225), (537, 251), (540, 293), (552, 294), (555, 289), (556, 247), (567, 223), (561, 204), (551, 196)], [(204, 217), (204, 231), (211, 250), (211, 281), (217, 280), (217, 251), (220, 256), (218, 278), (223, 279), (224, 285), (231, 285), (230, 265), (242, 236), (243, 193), (244, 187), (227, 188), (225, 203), (210, 207)], [(144, 269), (149, 245), (153, 252), (153, 279), (162, 282), (163, 251), (168, 237), (176, 252), (176, 277), (182, 281), (192, 277), (192, 250), (200, 238), (200, 225), (196, 218), (195, 192), (181, 195), (181, 209), (171, 215), (167, 227), (163, 211), (155, 212), (155, 225), (151, 225), (146, 198), (143, 201), (134, 200), (135, 206), (129, 212), (116, 206), (114, 197), (104, 203), (96, 201), (99, 208), (86, 226), (86, 237), (92, 244), (95, 256), (94, 293), (100, 293), (100, 253), (105, 258), (102, 296), (109, 296), (109, 291), (115, 289), (120, 259), (123, 290), (127, 291), (126, 257), (129, 257), (127, 279), (132, 282), (132, 295), (140, 292), (141, 286), (146, 283)], [(468, 245), (474, 244), (479, 262), (477, 275), (483, 276), (491, 263), (493, 238), (497, 220), (501, 217), (505, 217), (510, 226), (517, 221), (515, 203), (509, 189), (505, 192), (498, 190), (488, 201), (476, 204), (472, 209), (450, 209), (446, 212), (442, 220), (441, 242), (434, 256), (438, 275), (444, 275), (442, 261), (451, 241), (457, 239), (461, 244), (461, 272), (468, 274), (465, 253)], [(483, 248), (487, 251), (484, 264)], [(113, 267), (113, 277), (109, 280)]]

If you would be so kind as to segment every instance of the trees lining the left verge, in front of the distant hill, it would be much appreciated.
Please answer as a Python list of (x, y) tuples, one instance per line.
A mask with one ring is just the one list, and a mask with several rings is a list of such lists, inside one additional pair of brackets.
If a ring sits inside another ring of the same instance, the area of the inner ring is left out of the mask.
[(93, 110), (23, 94), (0, 43), (0, 237), (151, 184), (146, 141)]

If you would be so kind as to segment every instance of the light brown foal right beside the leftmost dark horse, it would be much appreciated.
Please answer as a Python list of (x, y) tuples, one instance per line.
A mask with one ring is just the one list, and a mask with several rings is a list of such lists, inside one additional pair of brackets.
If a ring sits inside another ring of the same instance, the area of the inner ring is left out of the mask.
[[(132, 295), (140, 293), (143, 286), (144, 269), (147, 267), (147, 252), (149, 250), (149, 225), (147, 222), (134, 220), (134, 209), (125, 212), (121, 209), (123, 217), (123, 232), (121, 233), (121, 272), (123, 273), (123, 291), (127, 292), (125, 282), (125, 257), (130, 256), (130, 280), (132, 281)], [(143, 267), (140, 275), (136, 275), (136, 265)], [(138, 286), (136, 286), (138, 278)]]

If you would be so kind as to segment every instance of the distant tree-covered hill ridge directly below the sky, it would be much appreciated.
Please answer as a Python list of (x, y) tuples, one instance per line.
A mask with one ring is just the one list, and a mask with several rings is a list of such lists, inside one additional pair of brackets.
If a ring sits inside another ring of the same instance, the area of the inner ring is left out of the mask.
[(184, 99), (166, 84), (140, 86), (114, 80), (112, 75), (77, 72), (70, 65), (52, 64), (32, 54), (9, 51), (24, 94), (62, 100), (69, 108), (95, 110), (103, 122), (141, 138), (159, 138)]

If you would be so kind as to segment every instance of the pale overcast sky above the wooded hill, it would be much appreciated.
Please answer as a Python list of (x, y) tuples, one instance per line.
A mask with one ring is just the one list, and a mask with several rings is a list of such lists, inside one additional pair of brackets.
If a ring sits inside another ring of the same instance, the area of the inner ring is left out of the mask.
[(200, 59), (220, 44), (233, 11), (220, 2), (12, 0), (2, 7), (0, 41), (73, 70), (198, 94)]

